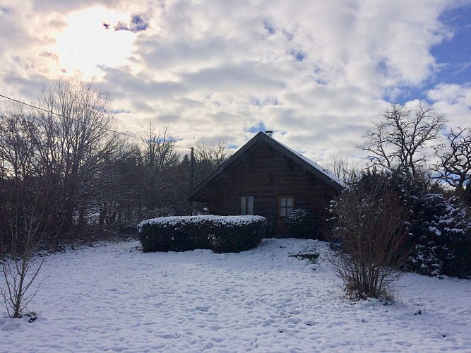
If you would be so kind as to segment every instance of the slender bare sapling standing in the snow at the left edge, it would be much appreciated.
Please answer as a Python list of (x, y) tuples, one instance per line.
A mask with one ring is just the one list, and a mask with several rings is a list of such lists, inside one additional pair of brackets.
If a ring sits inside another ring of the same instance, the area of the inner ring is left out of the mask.
[(35, 117), (16, 109), (0, 121), (2, 161), (0, 203), (0, 261), (3, 304), (10, 317), (19, 318), (39, 285), (33, 284), (44, 258), (36, 256), (49, 222), (52, 188), (42, 177), (37, 160)]

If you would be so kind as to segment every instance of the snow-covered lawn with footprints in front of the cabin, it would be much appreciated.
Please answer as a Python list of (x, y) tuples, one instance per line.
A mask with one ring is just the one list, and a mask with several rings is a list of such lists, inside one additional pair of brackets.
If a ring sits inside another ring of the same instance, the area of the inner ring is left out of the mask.
[[(225, 254), (138, 248), (48, 256), (29, 306), (40, 317), (0, 316), (0, 351), (471, 352), (469, 280), (407, 274), (384, 306), (345, 299), (318, 241), (265, 239)], [(316, 251), (318, 264), (290, 256)]]

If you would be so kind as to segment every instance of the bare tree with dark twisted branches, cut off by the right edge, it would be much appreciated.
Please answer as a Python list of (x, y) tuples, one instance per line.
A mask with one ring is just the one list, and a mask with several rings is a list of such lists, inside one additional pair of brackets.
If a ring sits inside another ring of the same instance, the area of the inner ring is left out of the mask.
[(471, 182), (471, 128), (451, 129), (448, 133), (448, 150), (437, 150), (440, 162), (434, 166), (438, 178), (463, 193), (465, 184)]

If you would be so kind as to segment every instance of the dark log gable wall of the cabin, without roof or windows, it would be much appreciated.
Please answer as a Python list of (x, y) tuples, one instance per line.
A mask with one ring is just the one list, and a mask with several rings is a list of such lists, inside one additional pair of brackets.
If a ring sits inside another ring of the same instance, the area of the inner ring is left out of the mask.
[(278, 197), (294, 196), (294, 208), (311, 210), (323, 224), (335, 191), (267, 143), (257, 143), (244, 158), (227, 168), (208, 188), (210, 213), (239, 215), (240, 197), (254, 196), (254, 215), (266, 217), (273, 235), (285, 236), (284, 218), (278, 217)]

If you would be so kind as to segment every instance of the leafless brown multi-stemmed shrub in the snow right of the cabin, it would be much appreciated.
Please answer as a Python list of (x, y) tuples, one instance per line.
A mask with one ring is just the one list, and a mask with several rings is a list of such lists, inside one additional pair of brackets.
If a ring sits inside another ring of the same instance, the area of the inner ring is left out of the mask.
[(345, 291), (393, 299), (391, 285), (407, 259), (407, 208), (392, 190), (360, 180), (333, 201), (330, 212), (334, 225), (326, 237), (340, 244), (331, 262)]

